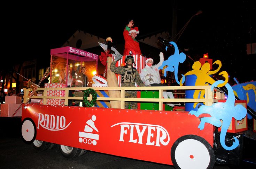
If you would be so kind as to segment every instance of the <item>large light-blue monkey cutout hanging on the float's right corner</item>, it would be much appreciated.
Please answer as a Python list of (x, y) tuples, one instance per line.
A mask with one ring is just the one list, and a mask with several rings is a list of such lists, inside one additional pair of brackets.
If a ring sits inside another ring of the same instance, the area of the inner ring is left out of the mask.
[[(214, 87), (217, 87), (218, 84), (224, 83), (223, 80), (218, 80), (215, 83), (212, 84), (211, 90), (214, 89)], [(228, 98), (225, 103), (214, 103), (211, 106), (204, 106), (202, 105), (197, 112), (195, 110), (191, 110), (189, 114), (195, 115), (198, 117), (200, 114), (206, 113), (211, 115), (211, 117), (203, 117), (201, 118), (201, 122), (198, 126), (200, 130), (203, 130), (204, 123), (210, 123), (216, 127), (222, 126), (222, 130), (220, 132), (220, 144), (223, 146), (226, 150), (233, 150), (239, 145), (238, 139), (234, 137), (234, 142), (232, 146), (228, 147), (225, 144), (225, 136), (227, 133), (227, 129), (230, 126), (230, 123), (232, 121), (232, 117), (234, 117), (236, 120), (241, 120), (246, 116), (247, 110), (242, 105), (235, 105), (235, 96), (234, 92), (232, 90), (232, 87), (230, 84), (226, 84), (225, 87), (228, 91)], [(220, 120), (223, 121), (223, 123), (220, 122)]]

